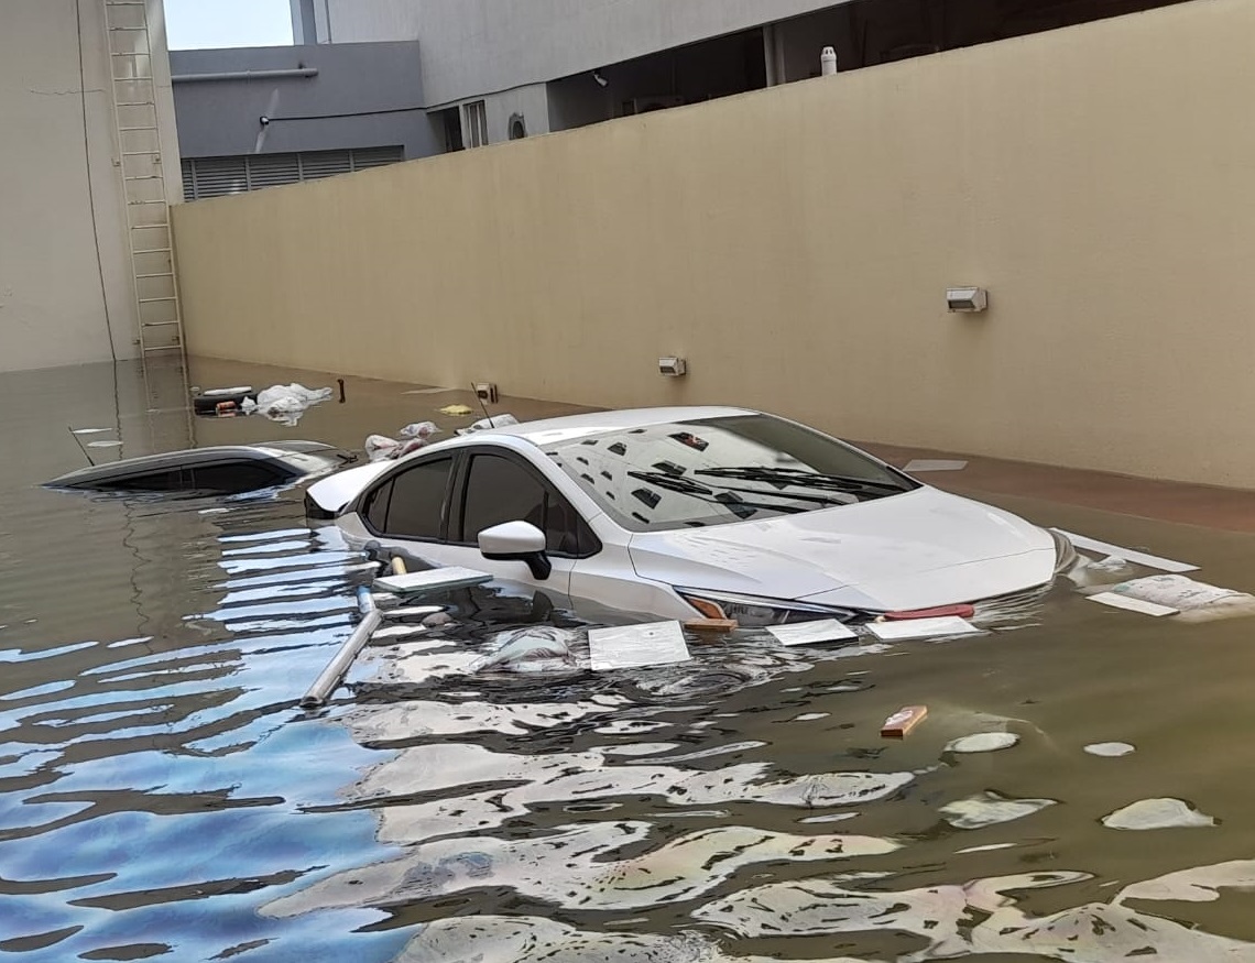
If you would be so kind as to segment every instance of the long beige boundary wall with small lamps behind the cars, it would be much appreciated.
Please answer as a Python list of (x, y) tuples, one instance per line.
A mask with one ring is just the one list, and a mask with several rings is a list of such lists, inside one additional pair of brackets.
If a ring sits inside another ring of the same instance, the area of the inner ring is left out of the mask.
[(1192, 0), (183, 206), (188, 344), (1255, 487), (1252, 51)]

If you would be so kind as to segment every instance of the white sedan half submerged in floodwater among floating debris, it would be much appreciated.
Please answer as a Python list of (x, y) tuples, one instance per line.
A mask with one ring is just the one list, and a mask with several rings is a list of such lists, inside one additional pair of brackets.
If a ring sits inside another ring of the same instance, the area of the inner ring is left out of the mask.
[(1073, 558), (1008, 512), (733, 408), (488, 429), (340, 471), (306, 507), (356, 547), (491, 572), (557, 604), (745, 626), (1015, 596)]

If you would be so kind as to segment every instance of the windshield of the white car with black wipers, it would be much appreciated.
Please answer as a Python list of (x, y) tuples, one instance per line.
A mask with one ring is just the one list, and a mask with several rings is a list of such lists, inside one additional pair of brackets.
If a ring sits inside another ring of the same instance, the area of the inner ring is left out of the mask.
[(633, 532), (761, 522), (919, 487), (850, 445), (772, 415), (597, 433), (545, 451)]

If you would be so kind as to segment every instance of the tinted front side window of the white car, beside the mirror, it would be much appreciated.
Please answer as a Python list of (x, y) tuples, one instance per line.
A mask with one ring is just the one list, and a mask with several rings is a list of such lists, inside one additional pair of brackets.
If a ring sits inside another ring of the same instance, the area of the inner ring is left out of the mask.
[(474, 544), (479, 533), (506, 522), (528, 522), (545, 533), (550, 552), (586, 554), (594, 542), (584, 519), (536, 471), (501, 455), (474, 455), (462, 503), (462, 538)]

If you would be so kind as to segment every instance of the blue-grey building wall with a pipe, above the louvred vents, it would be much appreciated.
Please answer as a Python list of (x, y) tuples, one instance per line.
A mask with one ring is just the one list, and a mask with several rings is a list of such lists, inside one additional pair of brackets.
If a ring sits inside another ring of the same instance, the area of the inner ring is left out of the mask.
[(439, 153), (425, 112), (415, 109), (423, 105), (417, 43), (176, 50), (169, 59), (176, 76), (296, 66), (319, 71), (312, 78), (176, 82), (184, 157), (251, 154), (257, 118), (271, 112), (276, 92), (264, 153), (394, 144), (405, 148), (407, 158)]

